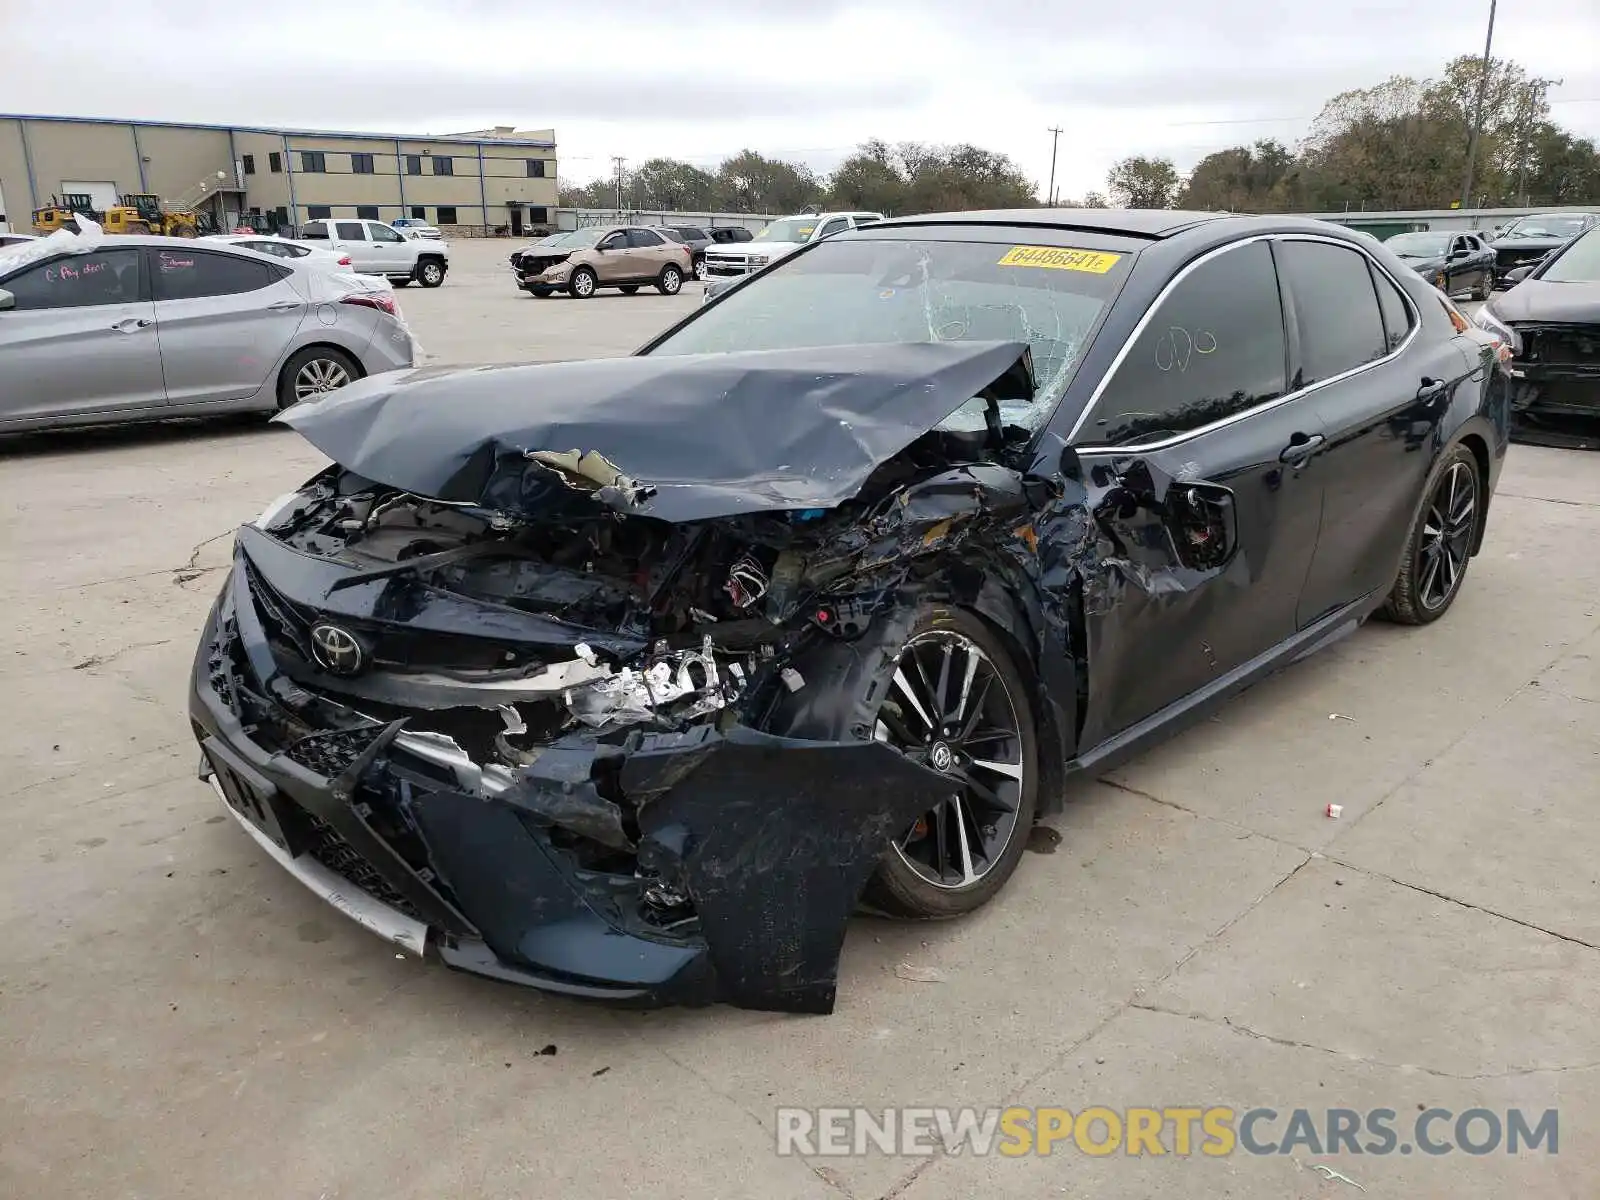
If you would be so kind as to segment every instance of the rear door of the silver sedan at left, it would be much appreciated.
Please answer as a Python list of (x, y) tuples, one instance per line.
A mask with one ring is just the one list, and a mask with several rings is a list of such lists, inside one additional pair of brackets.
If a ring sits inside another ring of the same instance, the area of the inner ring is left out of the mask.
[(307, 310), (285, 269), (206, 251), (149, 254), (168, 402), (243, 400), (269, 384)]

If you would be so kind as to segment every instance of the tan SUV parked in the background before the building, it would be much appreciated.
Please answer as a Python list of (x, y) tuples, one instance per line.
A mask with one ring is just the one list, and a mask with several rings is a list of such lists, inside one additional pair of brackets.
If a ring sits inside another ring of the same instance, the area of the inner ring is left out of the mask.
[(589, 299), (597, 288), (632, 296), (654, 286), (677, 296), (691, 274), (691, 253), (682, 242), (643, 226), (594, 226), (539, 242), (517, 256), (517, 285), (534, 296), (562, 288)]

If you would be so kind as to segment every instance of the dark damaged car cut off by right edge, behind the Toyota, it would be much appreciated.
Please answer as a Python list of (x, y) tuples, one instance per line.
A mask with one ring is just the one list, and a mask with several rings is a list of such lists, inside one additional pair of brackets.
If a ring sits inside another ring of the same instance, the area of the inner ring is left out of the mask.
[(1522, 421), (1600, 416), (1600, 226), (1550, 251), (1474, 320), (1510, 349)]

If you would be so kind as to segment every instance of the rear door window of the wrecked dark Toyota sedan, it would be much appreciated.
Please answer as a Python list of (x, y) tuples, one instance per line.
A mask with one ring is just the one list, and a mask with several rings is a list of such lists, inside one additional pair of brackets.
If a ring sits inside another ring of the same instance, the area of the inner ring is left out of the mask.
[(1277, 254), (1278, 270), (1294, 296), (1299, 330), (1294, 387), (1331, 379), (1389, 354), (1365, 254), (1326, 242), (1280, 242)]

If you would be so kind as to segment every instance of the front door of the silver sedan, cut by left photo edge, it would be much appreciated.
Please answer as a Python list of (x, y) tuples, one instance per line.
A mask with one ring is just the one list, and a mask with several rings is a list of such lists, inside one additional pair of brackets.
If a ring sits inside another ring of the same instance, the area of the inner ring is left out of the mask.
[(0, 424), (166, 403), (138, 250), (40, 262), (0, 282)]

